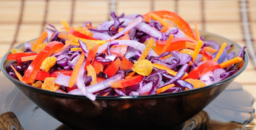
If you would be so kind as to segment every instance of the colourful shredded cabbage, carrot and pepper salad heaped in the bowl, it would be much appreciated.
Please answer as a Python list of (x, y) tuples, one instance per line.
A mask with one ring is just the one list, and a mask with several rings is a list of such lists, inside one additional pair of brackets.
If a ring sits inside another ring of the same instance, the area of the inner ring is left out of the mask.
[[(11, 49), (13, 78), (48, 91), (96, 96), (137, 96), (200, 88), (233, 75), (243, 60), (232, 45), (205, 41), (178, 14), (160, 10), (117, 16), (98, 26), (53, 25), (24, 49)], [(167, 22), (168, 20), (168, 22)]]

